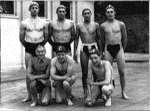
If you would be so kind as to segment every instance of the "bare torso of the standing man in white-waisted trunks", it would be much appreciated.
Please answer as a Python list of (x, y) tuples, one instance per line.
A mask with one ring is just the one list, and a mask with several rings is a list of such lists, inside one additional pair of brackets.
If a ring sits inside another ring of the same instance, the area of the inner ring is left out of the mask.
[(79, 24), (79, 32), (82, 43), (93, 43), (96, 42), (96, 30), (98, 24), (91, 22), (89, 24)]

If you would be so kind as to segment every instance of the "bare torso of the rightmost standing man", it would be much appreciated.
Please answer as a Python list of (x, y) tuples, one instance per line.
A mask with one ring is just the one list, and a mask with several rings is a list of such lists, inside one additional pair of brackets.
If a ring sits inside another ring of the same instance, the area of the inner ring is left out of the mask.
[(120, 21), (114, 20), (112, 23), (106, 21), (101, 26), (105, 32), (105, 44), (121, 44)]

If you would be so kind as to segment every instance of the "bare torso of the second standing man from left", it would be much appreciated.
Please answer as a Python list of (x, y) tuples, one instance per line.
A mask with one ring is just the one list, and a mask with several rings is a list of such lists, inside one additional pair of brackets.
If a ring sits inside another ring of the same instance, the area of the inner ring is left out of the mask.
[(54, 21), (51, 23), (52, 36), (54, 42), (66, 43), (71, 39), (71, 30), (74, 24), (71, 20), (65, 19), (64, 22)]

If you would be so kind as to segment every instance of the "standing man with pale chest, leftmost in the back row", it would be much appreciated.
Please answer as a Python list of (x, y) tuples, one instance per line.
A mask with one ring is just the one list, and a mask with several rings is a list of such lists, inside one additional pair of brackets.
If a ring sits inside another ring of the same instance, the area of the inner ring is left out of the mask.
[[(39, 4), (31, 2), (29, 6), (30, 17), (22, 21), (20, 26), (20, 42), (25, 47), (25, 65), (28, 68), (28, 61), (32, 56), (35, 56), (36, 47), (41, 44), (45, 45), (48, 40), (48, 26), (46, 21), (38, 17)], [(26, 102), (31, 100), (29, 83), (26, 80), (28, 96), (23, 100)]]

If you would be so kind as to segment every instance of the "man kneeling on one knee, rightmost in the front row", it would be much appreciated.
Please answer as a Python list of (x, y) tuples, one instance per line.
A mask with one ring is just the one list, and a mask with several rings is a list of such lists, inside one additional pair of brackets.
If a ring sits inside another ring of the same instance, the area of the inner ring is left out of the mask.
[[(100, 53), (96, 49), (90, 51), (88, 96), (85, 100), (87, 106), (92, 106), (100, 95), (105, 106), (111, 106), (112, 66), (108, 61), (101, 60)], [(93, 79), (93, 80), (92, 80)]]

